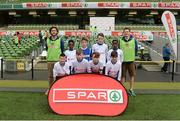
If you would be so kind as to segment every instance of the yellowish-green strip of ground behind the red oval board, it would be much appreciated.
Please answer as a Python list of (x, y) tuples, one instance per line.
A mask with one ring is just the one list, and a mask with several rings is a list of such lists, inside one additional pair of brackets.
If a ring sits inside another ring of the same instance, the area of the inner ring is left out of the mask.
[[(129, 87), (126, 82), (125, 87)], [(27, 81), (27, 80), (5, 80), (0, 81), (0, 87), (27, 87), (27, 88), (48, 88), (48, 81)], [(135, 89), (180, 89), (180, 83), (170, 82), (135, 82)]]

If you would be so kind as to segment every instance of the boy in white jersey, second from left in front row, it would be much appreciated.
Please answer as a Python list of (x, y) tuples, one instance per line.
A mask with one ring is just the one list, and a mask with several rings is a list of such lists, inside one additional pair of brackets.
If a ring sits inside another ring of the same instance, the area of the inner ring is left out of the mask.
[(87, 73), (88, 72), (88, 61), (83, 58), (82, 50), (76, 51), (76, 61), (72, 63), (72, 73)]

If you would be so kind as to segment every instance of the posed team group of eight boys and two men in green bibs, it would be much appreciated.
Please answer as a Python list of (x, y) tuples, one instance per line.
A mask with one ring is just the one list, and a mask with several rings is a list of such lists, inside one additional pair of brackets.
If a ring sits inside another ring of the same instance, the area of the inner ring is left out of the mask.
[[(124, 38), (124, 42), (113, 40), (112, 49), (109, 51), (107, 44), (104, 43), (103, 33), (97, 35), (97, 41), (92, 48), (88, 48), (88, 39), (82, 38), (81, 48), (79, 50), (74, 50), (75, 42), (69, 40), (69, 49), (64, 51), (64, 42), (57, 36), (58, 29), (51, 27), (51, 36), (47, 40), (46, 46), (49, 86), (51, 86), (55, 80), (65, 75), (77, 73), (105, 74), (124, 82), (126, 71), (128, 71), (130, 75), (129, 93), (135, 96), (133, 84), (135, 78), (134, 60), (135, 52), (137, 51), (137, 42), (130, 35), (129, 28), (125, 28), (123, 32), (125, 35), (128, 35), (129, 38)], [(122, 50), (119, 49), (119, 44)]]

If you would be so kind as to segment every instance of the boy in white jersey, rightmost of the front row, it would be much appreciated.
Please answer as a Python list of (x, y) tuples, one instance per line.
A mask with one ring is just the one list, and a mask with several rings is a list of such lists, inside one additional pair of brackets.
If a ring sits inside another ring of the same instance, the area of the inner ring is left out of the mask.
[(106, 64), (105, 75), (108, 75), (118, 81), (121, 80), (121, 62), (118, 61), (118, 53), (116, 51), (111, 52), (111, 60)]

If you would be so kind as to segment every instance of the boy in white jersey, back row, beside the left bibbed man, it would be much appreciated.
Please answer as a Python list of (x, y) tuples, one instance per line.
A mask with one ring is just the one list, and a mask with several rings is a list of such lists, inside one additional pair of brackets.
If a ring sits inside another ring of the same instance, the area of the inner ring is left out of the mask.
[(69, 50), (66, 50), (64, 54), (67, 57), (67, 62), (69, 63), (70, 66), (72, 66), (72, 62), (76, 60), (76, 50), (74, 50), (73, 40), (68, 41), (68, 47), (69, 47)]

